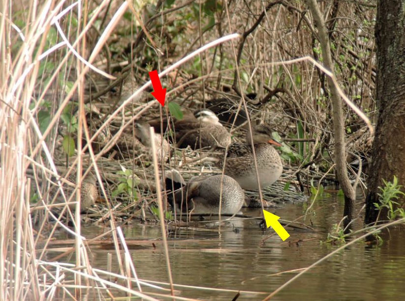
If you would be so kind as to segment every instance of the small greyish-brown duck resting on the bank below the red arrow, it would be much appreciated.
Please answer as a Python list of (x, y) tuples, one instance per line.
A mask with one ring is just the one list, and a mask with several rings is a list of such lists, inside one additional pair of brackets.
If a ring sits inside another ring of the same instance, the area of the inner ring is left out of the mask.
[[(152, 141), (149, 132), (150, 125), (144, 120), (135, 121), (134, 132), (123, 132), (116, 141), (117, 148), (123, 152), (129, 152), (135, 158), (144, 158), (152, 161)], [(165, 162), (170, 153), (170, 144), (159, 133), (154, 134), (155, 150), (158, 163)]]

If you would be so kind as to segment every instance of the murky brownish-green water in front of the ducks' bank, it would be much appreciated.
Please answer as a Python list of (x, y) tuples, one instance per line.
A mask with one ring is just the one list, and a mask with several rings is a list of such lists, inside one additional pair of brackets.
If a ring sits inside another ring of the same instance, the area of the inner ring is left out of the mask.
[[(169, 239), (170, 264), (175, 284), (252, 291), (238, 300), (262, 300), (337, 246), (320, 244), (332, 225), (341, 219), (343, 204), (337, 198), (319, 201), (306, 220), (317, 232), (287, 228), (289, 239), (283, 242), (262, 231), (257, 220), (235, 220), (206, 230), (181, 230)], [(303, 215), (303, 203), (285, 204), (270, 210), (282, 219)], [(260, 210), (246, 209), (257, 216)], [(361, 224), (361, 217), (358, 224)], [(235, 227), (237, 230), (235, 231)], [(94, 231), (86, 228), (86, 231)], [(131, 225), (123, 228), (127, 239), (157, 239), (158, 225)], [(94, 236), (94, 234), (92, 235)], [(390, 229), (382, 246), (357, 243), (322, 262), (296, 279), (272, 300), (403, 300), (405, 287), (404, 231)], [(298, 242), (299, 241), (299, 242)], [(92, 250), (93, 267), (106, 269), (106, 250)], [(114, 251), (112, 251), (114, 253)], [(114, 255), (113, 255), (114, 256)], [(168, 282), (163, 246), (131, 251), (138, 277)], [(113, 268), (118, 272), (118, 268)], [(146, 292), (150, 289), (144, 287)], [(176, 287), (177, 296), (200, 300), (232, 300), (235, 292), (213, 292)], [(156, 292), (156, 291), (155, 291)], [(263, 293), (263, 294), (260, 294)]]

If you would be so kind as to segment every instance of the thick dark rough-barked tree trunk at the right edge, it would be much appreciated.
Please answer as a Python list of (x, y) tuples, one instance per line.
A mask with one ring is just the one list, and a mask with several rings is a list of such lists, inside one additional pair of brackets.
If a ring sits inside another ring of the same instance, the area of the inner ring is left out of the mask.
[[(379, 0), (376, 19), (378, 119), (365, 222), (375, 222), (378, 186), (394, 175), (405, 184), (405, 0)], [(380, 218), (385, 219), (380, 215)]]

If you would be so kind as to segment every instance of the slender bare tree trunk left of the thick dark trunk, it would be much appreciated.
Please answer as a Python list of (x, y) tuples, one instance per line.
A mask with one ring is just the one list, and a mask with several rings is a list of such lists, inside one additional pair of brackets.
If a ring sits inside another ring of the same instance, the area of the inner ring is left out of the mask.
[[(325, 21), (319, 10), (316, 0), (308, 0), (308, 6), (315, 21), (315, 25), (318, 28), (318, 39), (322, 48), (322, 58), (324, 66), (334, 73), (334, 64), (332, 62), (332, 56), (330, 52), (329, 37)], [(335, 158), (336, 174), (339, 184), (345, 194), (345, 209), (343, 224), (346, 226), (353, 218), (353, 203), (355, 198), (355, 192), (350, 184), (350, 180), (347, 175), (346, 167), (346, 144), (345, 144), (345, 124), (344, 124), (344, 112), (342, 108), (342, 99), (339, 96), (339, 92), (330, 77), (327, 77), (328, 85), (330, 89), (330, 99), (332, 101), (332, 114), (333, 114), (333, 133), (335, 137)], [(348, 230), (348, 228), (347, 228)]]

